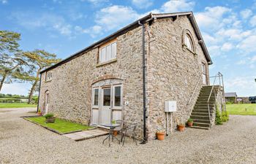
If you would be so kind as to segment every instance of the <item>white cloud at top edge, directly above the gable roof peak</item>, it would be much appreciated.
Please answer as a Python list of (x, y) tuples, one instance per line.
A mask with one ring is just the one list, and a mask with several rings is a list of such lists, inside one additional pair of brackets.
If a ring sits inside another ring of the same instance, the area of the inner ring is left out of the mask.
[(170, 0), (162, 5), (161, 10), (163, 12), (189, 12), (195, 6), (194, 1), (189, 0)]

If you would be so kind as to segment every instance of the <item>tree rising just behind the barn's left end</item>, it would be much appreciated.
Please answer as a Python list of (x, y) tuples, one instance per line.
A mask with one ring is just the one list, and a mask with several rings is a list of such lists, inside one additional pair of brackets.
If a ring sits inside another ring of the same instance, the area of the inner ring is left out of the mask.
[(39, 85), (39, 74), (42, 69), (47, 68), (48, 66), (58, 63), (60, 59), (56, 58), (55, 54), (46, 52), (45, 50), (34, 50), (31, 52), (23, 52), (23, 58), (29, 62), (30, 71), (27, 72), (26, 76), (22, 78), (26, 81), (31, 82), (31, 90), (29, 91), (29, 102), (31, 100), (35, 90), (37, 90)]

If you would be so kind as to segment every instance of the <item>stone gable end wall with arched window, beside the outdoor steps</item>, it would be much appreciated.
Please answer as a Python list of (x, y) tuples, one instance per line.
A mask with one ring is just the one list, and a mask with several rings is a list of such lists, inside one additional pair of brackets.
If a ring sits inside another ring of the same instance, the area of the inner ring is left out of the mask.
[[(184, 29), (192, 33), (197, 55), (182, 47)], [(158, 127), (166, 128), (165, 101), (177, 101), (173, 124), (184, 123), (189, 118), (200, 93), (200, 80), (192, 96), (197, 80), (202, 76), (201, 65), (208, 64), (197, 36), (187, 16), (159, 19), (148, 31), (148, 137), (155, 137)], [(208, 79), (208, 77), (207, 77)], [(192, 96), (190, 104), (189, 98)], [(170, 119), (169, 119), (170, 120)], [(170, 125), (169, 125), (170, 128)]]

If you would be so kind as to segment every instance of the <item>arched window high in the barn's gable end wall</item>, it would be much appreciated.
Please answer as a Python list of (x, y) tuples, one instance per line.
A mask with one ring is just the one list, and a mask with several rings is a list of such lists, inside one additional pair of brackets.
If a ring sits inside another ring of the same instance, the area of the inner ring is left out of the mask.
[(190, 50), (191, 52), (193, 52), (195, 54), (195, 42), (193, 40), (193, 37), (192, 37), (192, 34), (189, 30), (184, 30), (183, 32), (183, 48), (184, 49), (188, 49)]

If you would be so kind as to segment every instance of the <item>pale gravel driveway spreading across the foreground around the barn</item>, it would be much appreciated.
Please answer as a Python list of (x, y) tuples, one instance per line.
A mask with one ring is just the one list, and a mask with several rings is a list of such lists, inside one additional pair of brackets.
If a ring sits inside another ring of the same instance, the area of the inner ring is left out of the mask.
[(35, 109), (0, 109), (0, 163), (256, 163), (256, 116), (230, 116), (211, 130), (187, 128), (165, 141), (124, 147), (105, 136), (72, 141), (23, 120)]

